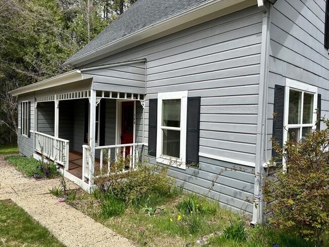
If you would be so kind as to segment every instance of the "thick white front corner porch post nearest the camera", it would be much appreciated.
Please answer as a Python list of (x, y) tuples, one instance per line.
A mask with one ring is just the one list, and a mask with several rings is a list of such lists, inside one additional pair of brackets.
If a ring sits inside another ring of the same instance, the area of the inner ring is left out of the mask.
[(89, 185), (93, 184), (94, 164), (95, 164), (95, 119), (96, 119), (96, 91), (90, 92), (90, 119), (89, 119)]

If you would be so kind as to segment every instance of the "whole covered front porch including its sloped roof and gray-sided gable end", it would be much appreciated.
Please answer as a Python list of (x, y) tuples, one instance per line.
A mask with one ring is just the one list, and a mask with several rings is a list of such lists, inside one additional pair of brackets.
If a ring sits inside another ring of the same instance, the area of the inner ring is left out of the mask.
[(144, 148), (144, 60), (75, 70), (38, 84), (35, 158), (54, 161), (88, 191), (95, 171), (109, 171), (119, 158), (135, 169)]

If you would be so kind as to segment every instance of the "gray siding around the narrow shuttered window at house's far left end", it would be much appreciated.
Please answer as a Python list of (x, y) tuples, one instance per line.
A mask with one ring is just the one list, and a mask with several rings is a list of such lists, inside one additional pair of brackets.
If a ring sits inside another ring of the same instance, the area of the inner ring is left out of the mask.
[(22, 136), (18, 130), (18, 151), (20, 155), (31, 156), (34, 153), (34, 94), (19, 96), (18, 99), (18, 126), (21, 127), (21, 102), (30, 101), (30, 137)]

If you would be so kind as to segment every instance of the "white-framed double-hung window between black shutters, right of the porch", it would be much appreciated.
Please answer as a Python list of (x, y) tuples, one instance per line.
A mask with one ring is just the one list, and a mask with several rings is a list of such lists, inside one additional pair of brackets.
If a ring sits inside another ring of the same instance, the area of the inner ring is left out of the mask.
[(187, 91), (158, 93), (156, 160), (185, 168)]

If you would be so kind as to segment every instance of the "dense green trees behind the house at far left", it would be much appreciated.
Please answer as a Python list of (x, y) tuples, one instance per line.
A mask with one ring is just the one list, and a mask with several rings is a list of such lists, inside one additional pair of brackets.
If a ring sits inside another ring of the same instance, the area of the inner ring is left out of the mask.
[(0, 0), (0, 140), (17, 133), (8, 92), (66, 72), (65, 60), (134, 2)]

